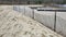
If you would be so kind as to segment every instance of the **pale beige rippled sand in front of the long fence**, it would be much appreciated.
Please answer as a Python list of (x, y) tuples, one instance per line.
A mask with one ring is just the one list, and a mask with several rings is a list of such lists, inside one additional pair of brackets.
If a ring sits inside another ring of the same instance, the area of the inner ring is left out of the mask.
[[(3, 5), (4, 7), (4, 5)], [(13, 11), (12, 7), (0, 7), (0, 37), (63, 37), (41, 23)]]

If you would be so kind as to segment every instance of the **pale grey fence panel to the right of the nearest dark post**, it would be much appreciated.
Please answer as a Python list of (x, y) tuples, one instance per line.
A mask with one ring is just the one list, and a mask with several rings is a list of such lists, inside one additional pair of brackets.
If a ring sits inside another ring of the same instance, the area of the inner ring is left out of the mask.
[(56, 32), (66, 36), (66, 12), (57, 12)]

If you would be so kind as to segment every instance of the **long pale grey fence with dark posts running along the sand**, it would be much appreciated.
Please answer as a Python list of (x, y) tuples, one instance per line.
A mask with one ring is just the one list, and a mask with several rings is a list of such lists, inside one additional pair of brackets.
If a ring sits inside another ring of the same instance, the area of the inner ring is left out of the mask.
[(43, 25), (66, 36), (66, 12), (37, 11), (24, 5), (15, 5), (13, 10), (30, 16)]

